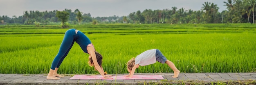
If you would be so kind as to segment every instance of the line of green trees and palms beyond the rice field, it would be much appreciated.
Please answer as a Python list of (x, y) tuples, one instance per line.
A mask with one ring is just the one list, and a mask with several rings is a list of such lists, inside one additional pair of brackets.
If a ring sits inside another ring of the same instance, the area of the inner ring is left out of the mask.
[[(194, 23), (254, 23), (256, 0), (227, 0), (223, 2), (227, 10), (219, 12), (217, 4), (204, 2), (201, 10), (193, 11), (184, 8), (136, 11), (127, 16), (91, 17), (76, 9), (72, 11), (24, 11), (22, 16), (0, 16), (0, 21), (7, 24), (56, 24), (63, 27), (68, 24), (97, 24), (97, 23), (135, 23), (135, 24), (194, 24)], [(64, 14), (64, 12), (66, 14)], [(64, 15), (63, 15), (64, 14)], [(1, 23), (1, 22), (0, 22)]]

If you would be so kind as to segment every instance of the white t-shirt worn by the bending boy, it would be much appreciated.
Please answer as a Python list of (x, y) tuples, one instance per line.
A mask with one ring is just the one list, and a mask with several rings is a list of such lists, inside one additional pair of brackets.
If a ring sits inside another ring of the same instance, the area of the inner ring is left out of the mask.
[(150, 65), (157, 61), (155, 58), (155, 52), (157, 49), (146, 50), (141, 54), (137, 55), (135, 58), (135, 65), (139, 64), (141, 66)]

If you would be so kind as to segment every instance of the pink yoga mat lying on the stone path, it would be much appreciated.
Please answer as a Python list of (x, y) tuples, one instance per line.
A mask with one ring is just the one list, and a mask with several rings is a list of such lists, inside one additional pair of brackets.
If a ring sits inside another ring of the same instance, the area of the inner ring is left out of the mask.
[[(126, 76), (112, 76), (113, 79), (106, 80), (127, 80), (127, 79), (164, 79), (162, 75), (133, 75), (132, 78), (125, 78)], [(101, 75), (74, 75), (70, 79), (105, 79)]]

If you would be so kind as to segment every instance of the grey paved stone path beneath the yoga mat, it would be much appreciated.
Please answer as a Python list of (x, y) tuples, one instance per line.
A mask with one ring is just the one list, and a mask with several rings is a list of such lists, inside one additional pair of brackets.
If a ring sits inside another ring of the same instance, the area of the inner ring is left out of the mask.
[[(135, 73), (135, 75), (162, 75), (164, 80), (72, 80), (74, 74), (65, 74), (60, 80), (46, 79), (46, 74), (0, 74), (0, 85), (143, 85), (145, 83), (177, 82), (220, 82), (220, 81), (255, 81), (256, 72), (252, 73), (180, 73), (172, 78), (173, 73)], [(89, 74), (86, 74), (89, 75)], [(111, 75), (111, 74), (110, 74)], [(115, 74), (112, 74), (115, 75)], [(126, 74), (117, 74), (126, 75)]]

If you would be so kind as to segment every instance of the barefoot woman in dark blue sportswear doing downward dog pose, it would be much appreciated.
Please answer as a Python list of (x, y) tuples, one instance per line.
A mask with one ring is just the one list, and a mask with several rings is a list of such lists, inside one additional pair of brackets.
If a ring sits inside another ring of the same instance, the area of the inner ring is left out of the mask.
[(102, 56), (99, 52), (96, 52), (94, 46), (92, 45), (90, 39), (84, 35), (81, 31), (76, 29), (69, 29), (65, 32), (64, 39), (61, 43), (60, 50), (54, 60), (52, 61), (52, 67), (47, 75), (47, 79), (60, 79), (58, 77), (63, 77), (57, 74), (58, 68), (61, 65), (63, 59), (67, 56), (68, 52), (72, 48), (74, 41), (82, 48), (85, 53), (88, 53), (90, 66), (94, 66), (94, 68), (103, 76), (103, 78), (111, 78), (106, 75), (102, 66), (101, 60)]

